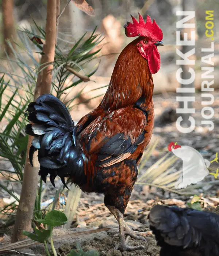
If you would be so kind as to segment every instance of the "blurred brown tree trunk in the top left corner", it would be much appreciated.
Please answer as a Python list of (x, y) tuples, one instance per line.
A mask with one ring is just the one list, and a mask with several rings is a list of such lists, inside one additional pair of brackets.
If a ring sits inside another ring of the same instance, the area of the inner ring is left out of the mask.
[(14, 7), (14, 0), (2, 0), (4, 44), (5, 44), (5, 50), (8, 54), (12, 54), (13, 51), (8, 45), (7, 40), (9, 40), (12, 46), (14, 47), (14, 42), (12, 40), (13, 36), (15, 36), (13, 7)]

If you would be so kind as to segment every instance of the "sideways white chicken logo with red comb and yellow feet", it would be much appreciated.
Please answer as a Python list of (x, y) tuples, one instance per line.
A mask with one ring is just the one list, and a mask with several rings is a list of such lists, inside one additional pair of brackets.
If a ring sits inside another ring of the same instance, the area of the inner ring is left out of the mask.
[(218, 169), (216, 173), (209, 173), (208, 170), (212, 162), (218, 162), (218, 153), (216, 153), (215, 159), (210, 162), (204, 159), (199, 151), (189, 146), (180, 146), (177, 143), (170, 142), (168, 150), (183, 160), (183, 174), (175, 183), (176, 189), (186, 188), (188, 185), (196, 184), (208, 174), (214, 175), (215, 178), (218, 176)]

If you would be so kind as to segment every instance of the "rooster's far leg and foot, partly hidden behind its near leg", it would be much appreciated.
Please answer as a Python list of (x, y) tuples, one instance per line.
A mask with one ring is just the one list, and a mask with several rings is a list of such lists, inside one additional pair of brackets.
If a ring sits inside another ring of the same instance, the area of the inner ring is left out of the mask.
[[(116, 208), (114, 206), (107, 206), (107, 208), (110, 210), (110, 212), (114, 215), (114, 217), (118, 221), (118, 218), (116, 215)], [(136, 240), (147, 241), (145, 236), (151, 235), (152, 232), (151, 231), (148, 231), (148, 232), (134, 231), (134, 230), (130, 229), (130, 227), (124, 222), (124, 234), (126, 236), (130, 236), (131, 238), (134, 238)]]

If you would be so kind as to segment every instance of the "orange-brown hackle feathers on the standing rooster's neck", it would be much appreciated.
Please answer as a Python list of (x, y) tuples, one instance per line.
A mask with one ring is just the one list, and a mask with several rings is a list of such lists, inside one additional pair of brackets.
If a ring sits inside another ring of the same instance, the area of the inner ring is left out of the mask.
[(124, 108), (134, 104), (142, 95), (146, 96), (146, 103), (151, 102), (153, 78), (147, 61), (135, 47), (140, 39), (132, 41), (120, 53), (108, 90), (99, 105), (100, 108), (112, 110)]

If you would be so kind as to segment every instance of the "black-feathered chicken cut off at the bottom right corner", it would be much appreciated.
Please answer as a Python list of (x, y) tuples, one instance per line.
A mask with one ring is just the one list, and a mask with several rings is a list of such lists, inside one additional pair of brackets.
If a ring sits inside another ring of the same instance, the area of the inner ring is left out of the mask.
[(219, 215), (176, 206), (154, 206), (150, 229), (161, 246), (160, 256), (218, 256)]

